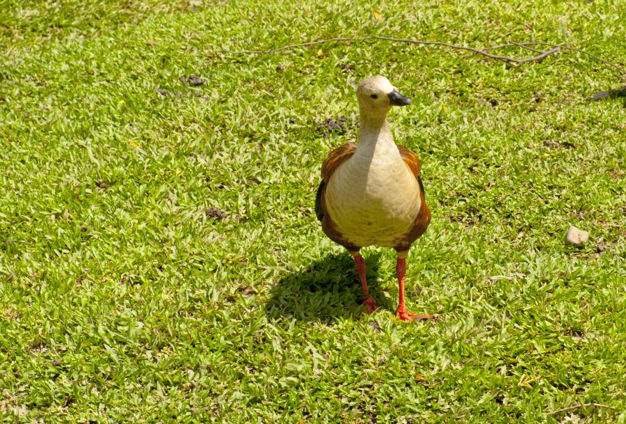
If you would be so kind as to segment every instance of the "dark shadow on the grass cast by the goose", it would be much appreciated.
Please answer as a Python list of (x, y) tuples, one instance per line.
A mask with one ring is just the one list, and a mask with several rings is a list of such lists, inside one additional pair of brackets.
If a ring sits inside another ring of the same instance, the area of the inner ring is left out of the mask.
[[(378, 285), (380, 256), (374, 254), (364, 260), (369, 292), (379, 308), (389, 308)], [(363, 313), (360, 308), (362, 297), (352, 256), (348, 253), (328, 255), (283, 276), (271, 289), (265, 312), (268, 317), (293, 317), (299, 321), (332, 324), (337, 317)]]

